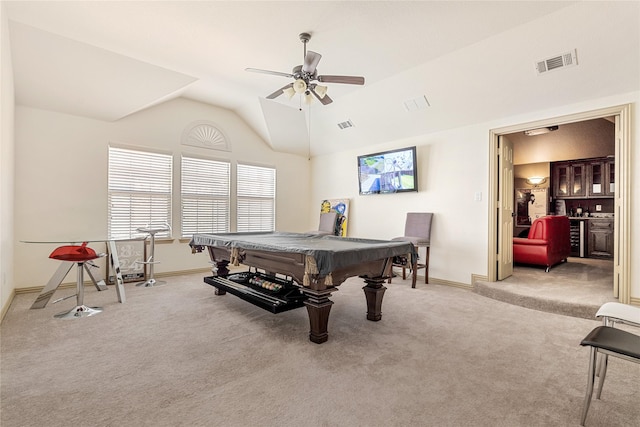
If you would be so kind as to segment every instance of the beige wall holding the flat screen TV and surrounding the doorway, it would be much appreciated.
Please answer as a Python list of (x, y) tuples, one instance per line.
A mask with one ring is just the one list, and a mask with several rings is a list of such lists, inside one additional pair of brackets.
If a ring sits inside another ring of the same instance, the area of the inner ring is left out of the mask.
[[(357, 237), (387, 239), (401, 236), (406, 212), (434, 212), (430, 277), (434, 283), (470, 286), (472, 275), (487, 275), (489, 131), (638, 102), (640, 93), (622, 94), (437, 134), (390, 141), (367, 150), (316, 157), (312, 168), (312, 199), (350, 198), (349, 235)], [(637, 109), (634, 109), (631, 126), (632, 129), (640, 127)], [(635, 147), (637, 143), (638, 135), (634, 131), (631, 146)], [(358, 195), (356, 157), (359, 154), (410, 145), (416, 145), (418, 150), (418, 193)], [(640, 150), (632, 148), (631, 154), (633, 213), (640, 212)], [(326, 173), (328, 170), (331, 173)], [(480, 200), (476, 200), (477, 196), (480, 196)], [(637, 254), (640, 250), (640, 223), (632, 219), (631, 229), (631, 253)], [(640, 299), (638, 263), (632, 263), (631, 283), (631, 297)]]

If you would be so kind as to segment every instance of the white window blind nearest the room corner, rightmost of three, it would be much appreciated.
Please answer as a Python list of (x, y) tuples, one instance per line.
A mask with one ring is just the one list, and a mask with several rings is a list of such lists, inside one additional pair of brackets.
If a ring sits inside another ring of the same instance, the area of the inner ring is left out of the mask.
[(237, 231), (274, 231), (276, 170), (238, 164), (236, 180)]

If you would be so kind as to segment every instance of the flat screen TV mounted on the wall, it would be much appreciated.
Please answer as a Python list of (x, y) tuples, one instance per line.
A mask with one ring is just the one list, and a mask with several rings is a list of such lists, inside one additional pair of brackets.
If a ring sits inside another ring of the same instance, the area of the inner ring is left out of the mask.
[(416, 147), (358, 156), (360, 194), (418, 191)]

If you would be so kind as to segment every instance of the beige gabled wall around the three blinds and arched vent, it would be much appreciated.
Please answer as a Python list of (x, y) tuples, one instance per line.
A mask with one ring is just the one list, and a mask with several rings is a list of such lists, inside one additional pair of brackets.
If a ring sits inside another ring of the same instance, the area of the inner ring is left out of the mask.
[[(208, 120), (227, 136), (232, 151), (181, 145), (190, 123)], [(57, 262), (48, 259), (55, 244), (22, 240), (66, 241), (104, 238), (107, 232), (107, 167), (110, 143), (173, 153), (173, 229), (180, 232), (180, 155), (196, 154), (274, 166), (277, 170), (276, 229), (309, 227), (309, 161), (274, 152), (238, 116), (226, 109), (176, 99), (113, 123), (27, 107), (16, 109), (15, 287), (43, 286)], [(232, 187), (234, 194), (235, 187)], [(232, 206), (235, 198), (232, 196)], [(232, 217), (233, 215), (232, 211)], [(235, 222), (232, 230), (235, 231)], [(104, 250), (104, 245), (94, 245)], [(175, 239), (156, 247), (157, 273), (209, 267), (205, 254), (191, 254)], [(73, 281), (73, 277), (67, 281)]]

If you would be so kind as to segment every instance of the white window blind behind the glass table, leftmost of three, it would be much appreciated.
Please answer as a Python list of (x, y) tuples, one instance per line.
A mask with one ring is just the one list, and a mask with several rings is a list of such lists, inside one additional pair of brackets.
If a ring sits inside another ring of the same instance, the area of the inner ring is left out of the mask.
[[(173, 158), (168, 154), (109, 147), (108, 234), (140, 236), (136, 229), (171, 224)], [(171, 237), (170, 232), (156, 237)]]

